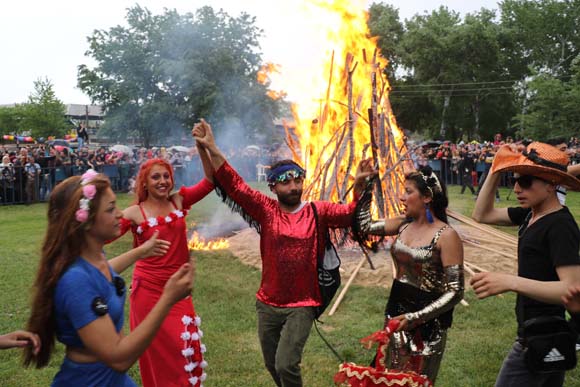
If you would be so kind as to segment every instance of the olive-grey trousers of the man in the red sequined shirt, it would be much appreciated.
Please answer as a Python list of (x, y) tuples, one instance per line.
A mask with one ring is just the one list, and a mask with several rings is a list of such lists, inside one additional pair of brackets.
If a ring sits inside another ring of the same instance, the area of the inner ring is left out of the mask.
[(256, 301), (258, 337), (266, 368), (279, 387), (301, 387), (300, 361), (314, 307), (278, 308)]

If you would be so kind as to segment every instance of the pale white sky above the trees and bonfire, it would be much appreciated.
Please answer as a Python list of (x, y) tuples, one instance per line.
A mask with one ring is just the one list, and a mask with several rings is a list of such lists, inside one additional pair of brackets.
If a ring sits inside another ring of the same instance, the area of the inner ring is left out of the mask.
[[(5, 0), (0, 2), (0, 105), (26, 102), (34, 81), (48, 78), (56, 97), (65, 104), (88, 104), (90, 99), (76, 87), (77, 67), (94, 65), (85, 56), (87, 37), (95, 29), (108, 30), (125, 24), (126, 9), (136, 3), (155, 14), (164, 8), (180, 13), (209, 5), (230, 16), (246, 12), (256, 16), (264, 30), (261, 40), (264, 62), (277, 63), (282, 71), (310, 71), (308, 52), (316, 50), (322, 37), (303, 20), (296, 7), (308, 0)], [(373, 1), (352, 0), (368, 7)], [(379, 2), (379, 1), (377, 1)], [(497, 9), (495, 0), (391, 0), (401, 20), (447, 6), (461, 14)], [(320, 39), (319, 39), (320, 38)], [(299, 54), (296, 51), (299, 50)], [(291, 96), (291, 90), (289, 90)]]

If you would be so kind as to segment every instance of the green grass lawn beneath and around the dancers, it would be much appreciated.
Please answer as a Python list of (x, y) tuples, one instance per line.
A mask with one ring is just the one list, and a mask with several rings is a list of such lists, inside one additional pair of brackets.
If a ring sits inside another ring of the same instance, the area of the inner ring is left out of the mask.
[[(507, 193), (507, 190), (502, 190), (499, 205), (516, 205), (513, 200), (506, 202)], [(460, 195), (458, 187), (450, 187), (449, 196), (452, 209), (471, 213), (474, 204), (471, 194)], [(118, 200), (124, 208), (131, 197), (120, 195)], [(580, 220), (580, 194), (569, 193), (567, 200), (576, 220)], [(215, 195), (210, 195), (194, 206), (189, 220), (203, 223), (220, 207), (223, 205)], [(26, 324), (30, 287), (46, 226), (45, 213), (45, 204), (0, 207), (0, 332), (19, 329)], [(130, 244), (130, 237), (125, 236), (107, 247), (107, 254), (114, 256), (129, 249)], [(198, 265), (193, 296), (196, 310), (203, 320), (204, 342), (208, 348), (205, 386), (272, 386), (262, 364), (256, 334), (254, 305), (255, 292), (260, 284), (259, 270), (243, 265), (225, 251), (199, 252), (196, 256)], [(130, 275), (130, 272), (125, 273), (126, 279)], [(360, 364), (371, 360), (372, 351), (364, 350), (358, 339), (381, 327), (387, 297), (385, 289), (354, 286), (337, 313), (323, 318), (322, 330), (341, 356)], [(472, 291), (467, 291), (465, 297), (470, 306), (456, 308), (438, 386), (489, 387), (493, 385), (515, 337), (515, 297), (506, 294), (503, 298), (478, 301)], [(0, 351), (0, 385), (49, 385), (62, 357), (63, 348), (58, 345), (48, 367), (25, 369), (21, 366), (18, 350)], [(337, 366), (338, 361), (313, 330), (302, 362), (305, 385), (331, 386)], [(130, 374), (139, 380), (137, 366)], [(580, 371), (569, 372), (566, 380), (567, 386), (580, 385)]]

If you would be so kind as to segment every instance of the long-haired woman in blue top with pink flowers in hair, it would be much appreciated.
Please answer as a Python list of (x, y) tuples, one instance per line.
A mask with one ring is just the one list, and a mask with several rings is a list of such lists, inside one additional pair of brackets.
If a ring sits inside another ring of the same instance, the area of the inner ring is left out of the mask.
[(54, 338), (66, 357), (53, 386), (135, 386), (126, 371), (147, 348), (171, 306), (191, 293), (193, 267), (184, 264), (143, 322), (125, 336), (126, 288), (117, 273), (141, 257), (165, 254), (168, 242), (147, 243), (110, 261), (103, 245), (120, 233), (122, 213), (107, 177), (89, 170), (60, 183), (48, 205), (48, 227), (35, 282), (28, 330), (40, 351), (25, 351), (25, 365), (44, 367)]

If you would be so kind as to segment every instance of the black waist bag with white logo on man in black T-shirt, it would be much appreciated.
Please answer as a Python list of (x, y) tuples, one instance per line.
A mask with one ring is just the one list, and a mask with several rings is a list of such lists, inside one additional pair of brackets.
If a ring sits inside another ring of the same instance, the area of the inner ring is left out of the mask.
[(523, 324), (524, 360), (532, 373), (562, 372), (576, 367), (578, 334), (565, 318), (540, 316)]

